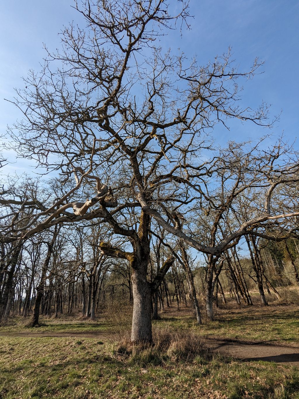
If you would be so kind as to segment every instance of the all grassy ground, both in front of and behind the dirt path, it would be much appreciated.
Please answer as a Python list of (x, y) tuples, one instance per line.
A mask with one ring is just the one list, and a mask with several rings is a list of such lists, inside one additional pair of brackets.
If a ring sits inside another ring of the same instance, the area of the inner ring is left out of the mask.
[(217, 337), (299, 346), (297, 306), (229, 303), (216, 318), (199, 327), (191, 308), (166, 310), (153, 322), (153, 348), (132, 348), (123, 338), (130, 330), (128, 308), (101, 314), (95, 322), (79, 314), (41, 318), (38, 328), (13, 318), (0, 327), (0, 399), (299, 399), (298, 368), (212, 355), (202, 343), (203, 337)]

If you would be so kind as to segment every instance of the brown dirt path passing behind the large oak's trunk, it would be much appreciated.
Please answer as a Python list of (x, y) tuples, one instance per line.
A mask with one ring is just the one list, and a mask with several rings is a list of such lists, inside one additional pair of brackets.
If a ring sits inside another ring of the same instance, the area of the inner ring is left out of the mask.
[[(70, 337), (70, 338), (95, 338), (97, 340), (107, 340), (110, 338), (109, 334), (89, 334), (89, 333), (69, 333), (69, 332), (2, 332), (1, 336), (7, 337), (24, 337), (24, 338), (41, 338), (41, 337)], [(1, 338), (0, 338), (1, 342)], [(264, 360), (275, 361), (276, 363), (291, 363), (299, 367), (299, 348), (290, 348), (286, 346), (270, 346), (263, 344), (248, 344), (240, 342), (229, 342), (222, 340), (204, 340), (207, 348), (212, 352), (221, 355), (232, 356), (233, 358), (241, 359), (243, 361), (250, 360)]]

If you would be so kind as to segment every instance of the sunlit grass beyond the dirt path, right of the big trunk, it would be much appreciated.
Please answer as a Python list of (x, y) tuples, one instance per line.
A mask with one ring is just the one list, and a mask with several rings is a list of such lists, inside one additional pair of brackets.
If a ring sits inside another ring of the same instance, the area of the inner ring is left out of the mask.
[(218, 310), (216, 321), (196, 326), (190, 311), (165, 312), (160, 325), (193, 328), (208, 338), (299, 345), (299, 312), (294, 306), (251, 306)]

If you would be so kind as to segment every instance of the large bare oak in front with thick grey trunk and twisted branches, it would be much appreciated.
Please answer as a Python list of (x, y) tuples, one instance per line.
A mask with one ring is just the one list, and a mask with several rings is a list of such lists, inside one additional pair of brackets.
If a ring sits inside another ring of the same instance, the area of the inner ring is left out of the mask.
[[(2, 242), (13, 243), (17, 259), (18, 243), (56, 224), (96, 219), (109, 226), (123, 244), (103, 241), (100, 250), (132, 268), (133, 342), (151, 342), (151, 298), (175, 260), (166, 259), (149, 281), (152, 224), (207, 254), (212, 281), (213, 265), (253, 226), (299, 215), (294, 209), (271, 214), (273, 192), (294, 180), (297, 157), (288, 170), (284, 166), (290, 178), (283, 182), (283, 176), (277, 180), (279, 167), (271, 164), (275, 151), (259, 156), (252, 150), (246, 154), (250, 165), (242, 146), (215, 157), (206, 133), (231, 118), (270, 124), (267, 104), (252, 110), (238, 101), (237, 81), (251, 78), (261, 62), (239, 72), (230, 52), (203, 66), (163, 52), (159, 36), (188, 24), (188, 2), (175, 4), (179, 8), (163, 0), (75, 2), (87, 27), (65, 28), (62, 50), (48, 51), (42, 71), (30, 72), (12, 101), (24, 115), (10, 130), (12, 147), (45, 172), (59, 172), (62, 193), (46, 209), (37, 206), (30, 215), (9, 219)], [(208, 161), (202, 150), (212, 151)], [(216, 189), (211, 193), (209, 186)], [(266, 208), (256, 208), (219, 237), (236, 198), (257, 188), (266, 195)], [(207, 241), (193, 231), (200, 229), (205, 211), (212, 215)]]

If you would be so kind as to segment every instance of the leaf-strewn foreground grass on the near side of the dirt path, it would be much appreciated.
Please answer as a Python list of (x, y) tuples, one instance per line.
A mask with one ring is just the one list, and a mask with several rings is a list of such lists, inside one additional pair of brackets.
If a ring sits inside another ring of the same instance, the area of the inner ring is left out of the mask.
[(120, 351), (96, 339), (0, 338), (0, 397), (299, 398), (299, 370), (219, 356)]

